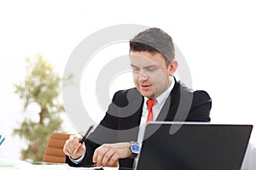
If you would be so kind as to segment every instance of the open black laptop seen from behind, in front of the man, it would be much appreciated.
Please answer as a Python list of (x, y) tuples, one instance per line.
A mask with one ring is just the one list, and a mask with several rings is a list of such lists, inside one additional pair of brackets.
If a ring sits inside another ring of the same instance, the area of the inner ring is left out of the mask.
[(148, 123), (137, 170), (238, 170), (252, 125)]

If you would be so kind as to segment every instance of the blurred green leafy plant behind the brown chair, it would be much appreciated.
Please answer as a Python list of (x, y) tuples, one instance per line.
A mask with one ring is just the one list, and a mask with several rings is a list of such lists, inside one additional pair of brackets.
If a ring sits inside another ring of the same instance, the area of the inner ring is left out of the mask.
[(14, 134), (27, 143), (27, 148), (21, 150), (22, 160), (42, 161), (49, 135), (61, 129), (60, 114), (64, 111), (63, 105), (58, 101), (61, 77), (41, 55), (34, 60), (26, 59), (26, 62), (25, 80), (15, 84), (15, 94), (19, 94), (24, 102), (24, 113), (31, 104), (39, 106), (40, 111), (32, 113), (38, 114), (39, 121), (33, 122), (25, 118), (20, 127), (14, 129)]

